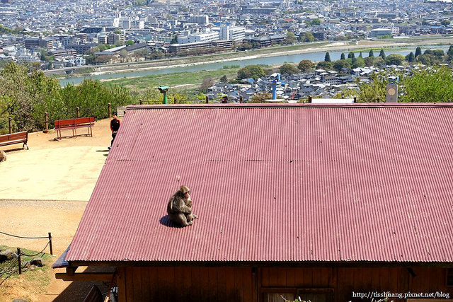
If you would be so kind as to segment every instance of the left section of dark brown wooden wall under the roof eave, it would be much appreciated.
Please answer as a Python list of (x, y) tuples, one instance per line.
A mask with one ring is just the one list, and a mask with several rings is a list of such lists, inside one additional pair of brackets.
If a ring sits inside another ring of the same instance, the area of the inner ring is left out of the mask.
[(118, 295), (128, 301), (256, 301), (251, 267), (120, 267)]

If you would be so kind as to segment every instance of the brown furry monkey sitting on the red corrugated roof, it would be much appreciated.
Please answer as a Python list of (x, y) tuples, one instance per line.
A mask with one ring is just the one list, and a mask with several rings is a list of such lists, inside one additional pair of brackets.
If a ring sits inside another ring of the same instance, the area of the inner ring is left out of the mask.
[(193, 219), (198, 218), (192, 214), (192, 199), (190, 199), (190, 189), (182, 185), (178, 191), (168, 201), (168, 218), (179, 226), (191, 226)]

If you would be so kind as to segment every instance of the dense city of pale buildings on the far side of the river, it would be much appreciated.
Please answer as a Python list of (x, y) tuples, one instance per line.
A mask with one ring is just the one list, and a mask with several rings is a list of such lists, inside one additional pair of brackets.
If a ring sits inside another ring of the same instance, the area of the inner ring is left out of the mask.
[(453, 31), (451, 0), (1, 2), (0, 59), (40, 69)]

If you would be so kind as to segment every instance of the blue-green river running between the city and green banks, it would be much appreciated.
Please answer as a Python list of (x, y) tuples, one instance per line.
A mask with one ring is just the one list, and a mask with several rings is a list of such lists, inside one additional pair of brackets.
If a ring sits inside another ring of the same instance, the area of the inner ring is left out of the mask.
[[(430, 46), (420, 46), (422, 50), (431, 49), (431, 50), (443, 50), (447, 52), (449, 49), (449, 45), (430, 45)], [(409, 54), (410, 52), (415, 53), (414, 48), (407, 48), (406, 50), (401, 50), (399, 48), (396, 51), (392, 50), (385, 50), (385, 54)], [(250, 53), (250, 52), (249, 52)], [(253, 51), (252, 51), (253, 53)], [(338, 51), (338, 52), (329, 52), (331, 60), (336, 61), (340, 59), (341, 54), (344, 53), (346, 57), (348, 57), (348, 51)], [(274, 64), (285, 64), (285, 63), (299, 63), (303, 59), (309, 59), (314, 62), (319, 62), (324, 60), (324, 56), (326, 55), (326, 51), (322, 52), (306, 52), (302, 54), (288, 54), (288, 55), (280, 55), (275, 57), (260, 57), (260, 58), (251, 58), (251, 59), (241, 59), (241, 60), (234, 60), (228, 62), (216, 62), (216, 63), (205, 63), (205, 64), (197, 64), (197, 65), (189, 65), (189, 66), (180, 66), (180, 67), (161, 67), (160, 69), (148, 69), (148, 70), (137, 70), (132, 72), (118, 72), (116, 74), (101, 74), (101, 75), (93, 75), (87, 76), (88, 78), (95, 79), (95, 80), (105, 80), (105, 79), (120, 79), (123, 77), (130, 77), (130, 76), (149, 76), (153, 74), (174, 74), (176, 72), (194, 72), (194, 71), (201, 71), (201, 70), (217, 70), (222, 69), (225, 65), (231, 66), (247, 66), (253, 64), (264, 64), (264, 65), (274, 65)], [(355, 56), (359, 54), (355, 52)], [(374, 52), (374, 56), (377, 57), (379, 55), (379, 51)], [(368, 57), (368, 52), (362, 52), (363, 57)], [(78, 84), (81, 81), (84, 81), (84, 77), (74, 77), (68, 79), (62, 79), (59, 83), (62, 86), (67, 85), (67, 83), (71, 84)]]

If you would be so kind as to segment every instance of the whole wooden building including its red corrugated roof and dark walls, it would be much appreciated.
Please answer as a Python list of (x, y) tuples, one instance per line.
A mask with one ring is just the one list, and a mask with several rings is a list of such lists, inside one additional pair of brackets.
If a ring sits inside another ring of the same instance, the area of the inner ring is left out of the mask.
[(56, 275), (119, 301), (449, 301), (452, 124), (452, 104), (128, 106)]

